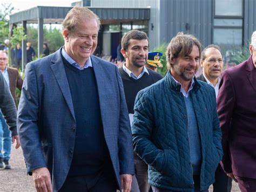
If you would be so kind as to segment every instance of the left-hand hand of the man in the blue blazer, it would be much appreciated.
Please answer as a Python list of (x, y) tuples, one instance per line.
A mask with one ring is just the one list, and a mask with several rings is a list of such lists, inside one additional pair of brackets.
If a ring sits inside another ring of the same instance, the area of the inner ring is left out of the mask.
[(51, 176), (48, 168), (33, 169), (32, 176), (37, 192), (52, 192)]

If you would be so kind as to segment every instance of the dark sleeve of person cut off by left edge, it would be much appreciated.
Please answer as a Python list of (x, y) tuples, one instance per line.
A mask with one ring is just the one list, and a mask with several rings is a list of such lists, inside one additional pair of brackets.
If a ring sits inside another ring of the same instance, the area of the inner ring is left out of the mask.
[(14, 99), (11, 96), (8, 84), (4, 80), (2, 73), (0, 72), (0, 108), (3, 113), (3, 117), (9, 126), (11, 136), (17, 136), (16, 117), (17, 111), (14, 103)]

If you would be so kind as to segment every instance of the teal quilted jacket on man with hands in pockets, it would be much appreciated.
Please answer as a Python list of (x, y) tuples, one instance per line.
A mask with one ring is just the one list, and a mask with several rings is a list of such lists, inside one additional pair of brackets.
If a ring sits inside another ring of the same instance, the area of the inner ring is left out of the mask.
[[(194, 79), (190, 94), (196, 111), (201, 142), (200, 189), (214, 182), (223, 150), (214, 89)], [(164, 79), (139, 91), (134, 105), (134, 152), (149, 165), (152, 186), (174, 191), (194, 191), (187, 136), (184, 96), (167, 73)]]

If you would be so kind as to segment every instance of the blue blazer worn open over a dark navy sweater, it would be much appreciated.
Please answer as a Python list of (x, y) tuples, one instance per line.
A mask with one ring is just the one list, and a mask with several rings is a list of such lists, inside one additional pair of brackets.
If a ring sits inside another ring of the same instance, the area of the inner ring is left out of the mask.
[[(18, 134), (28, 172), (47, 167), (53, 191), (69, 173), (76, 119), (60, 48), (26, 66), (18, 108)], [(120, 190), (120, 174), (134, 174), (131, 127), (123, 83), (116, 66), (91, 56), (104, 136)], [(79, 86), (79, 85), (77, 85)]]

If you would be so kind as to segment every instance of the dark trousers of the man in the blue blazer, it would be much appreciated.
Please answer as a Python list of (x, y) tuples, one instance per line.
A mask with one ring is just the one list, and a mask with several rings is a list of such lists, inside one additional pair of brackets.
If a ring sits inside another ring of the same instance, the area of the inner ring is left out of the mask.
[(112, 170), (96, 175), (68, 176), (59, 192), (116, 192), (117, 181)]

